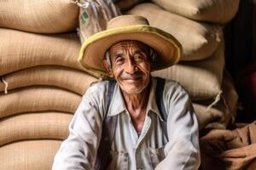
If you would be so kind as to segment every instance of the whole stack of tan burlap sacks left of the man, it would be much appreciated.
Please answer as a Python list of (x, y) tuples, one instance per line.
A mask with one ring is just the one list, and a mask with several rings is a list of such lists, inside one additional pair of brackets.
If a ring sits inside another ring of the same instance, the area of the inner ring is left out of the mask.
[(51, 169), (81, 96), (79, 7), (70, 0), (0, 3), (0, 169)]

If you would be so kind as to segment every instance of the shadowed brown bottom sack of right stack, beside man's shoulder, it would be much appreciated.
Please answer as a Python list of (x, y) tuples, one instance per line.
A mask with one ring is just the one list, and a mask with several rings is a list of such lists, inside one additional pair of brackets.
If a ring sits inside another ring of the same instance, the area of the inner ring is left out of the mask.
[(224, 93), (216, 105), (211, 105), (211, 101), (207, 100), (193, 104), (200, 128), (225, 129), (235, 120), (238, 95), (226, 71), (224, 71), (222, 88)]

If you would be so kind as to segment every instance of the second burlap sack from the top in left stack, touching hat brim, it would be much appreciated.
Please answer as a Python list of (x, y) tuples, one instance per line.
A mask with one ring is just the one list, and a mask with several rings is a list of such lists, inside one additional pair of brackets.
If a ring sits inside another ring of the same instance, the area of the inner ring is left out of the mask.
[(81, 44), (74, 33), (38, 35), (0, 29), (0, 76), (38, 65), (84, 70), (78, 62)]

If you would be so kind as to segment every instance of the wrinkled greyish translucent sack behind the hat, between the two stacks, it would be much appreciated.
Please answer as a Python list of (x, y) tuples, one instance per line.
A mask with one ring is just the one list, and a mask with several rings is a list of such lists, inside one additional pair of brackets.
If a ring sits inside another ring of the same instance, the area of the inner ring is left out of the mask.
[(79, 37), (84, 42), (91, 35), (106, 30), (108, 20), (120, 15), (112, 0), (80, 0)]

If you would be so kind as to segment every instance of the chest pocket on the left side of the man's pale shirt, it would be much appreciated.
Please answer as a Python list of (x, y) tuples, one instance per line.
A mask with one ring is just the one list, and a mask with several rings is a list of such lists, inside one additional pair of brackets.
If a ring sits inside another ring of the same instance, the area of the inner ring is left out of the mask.
[(110, 157), (109, 170), (128, 170), (129, 156), (127, 152), (110, 150)]

